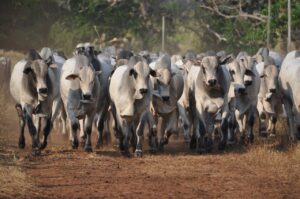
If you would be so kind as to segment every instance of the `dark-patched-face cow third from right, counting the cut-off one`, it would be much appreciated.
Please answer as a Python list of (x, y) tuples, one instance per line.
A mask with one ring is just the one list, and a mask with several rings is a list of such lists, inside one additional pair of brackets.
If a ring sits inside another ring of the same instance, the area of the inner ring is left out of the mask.
[(240, 53), (233, 62), (227, 64), (232, 79), (229, 89), (229, 143), (234, 143), (236, 122), (241, 133), (240, 142), (253, 142), (254, 139), (253, 125), (260, 88), (255, 64), (255, 59), (245, 52)]

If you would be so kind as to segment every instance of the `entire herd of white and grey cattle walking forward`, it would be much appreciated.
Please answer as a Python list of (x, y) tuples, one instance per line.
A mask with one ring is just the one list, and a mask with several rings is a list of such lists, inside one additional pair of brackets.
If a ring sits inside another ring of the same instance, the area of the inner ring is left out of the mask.
[(211, 151), (213, 143), (220, 150), (238, 140), (251, 143), (256, 116), (259, 135), (275, 136), (277, 118), (285, 115), (289, 136), (296, 141), (299, 78), (300, 51), (284, 59), (267, 48), (254, 56), (220, 51), (170, 57), (121, 50), (113, 57), (85, 43), (69, 59), (49, 48), (29, 50), (12, 70), (10, 92), (17, 102), (20, 148), (25, 147), (27, 124), (33, 153), (39, 154), (60, 119), (62, 133), (69, 124), (73, 148), (81, 141), (85, 151), (92, 151), (94, 125), (96, 147), (101, 147), (104, 128), (111, 123), (121, 153), (129, 155), (132, 146), (140, 157), (146, 126), (152, 152), (162, 151), (179, 126), (185, 142), (199, 153)]

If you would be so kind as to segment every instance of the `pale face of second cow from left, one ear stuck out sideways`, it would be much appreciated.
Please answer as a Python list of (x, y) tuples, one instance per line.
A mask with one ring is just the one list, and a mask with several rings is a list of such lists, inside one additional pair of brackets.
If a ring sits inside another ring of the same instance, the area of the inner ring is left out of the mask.
[(94, 101), (93, 89), (100, 73), (101, 71), (95, 71), (91, 66), (83, 66), (80, 68), (78, 74), (70, 74), (66, 77), (68, 80), (79, 79), (82, 92), (81, 102), (91, 103)]

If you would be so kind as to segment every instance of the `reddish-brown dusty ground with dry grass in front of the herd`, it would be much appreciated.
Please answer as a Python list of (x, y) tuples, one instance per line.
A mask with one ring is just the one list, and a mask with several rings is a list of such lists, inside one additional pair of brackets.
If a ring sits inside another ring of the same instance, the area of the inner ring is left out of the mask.
[(164, 154), (137, 159), (111, 146), (72, 150), (53, 131), (48, 148), (33, 157), (28, 132), (25, 150), (17, 148), (13, 105), (4, 106), (0, 198), (300, 198), (300, 145), (285, 136), (209, 155), (190, 152), (179, 137)]

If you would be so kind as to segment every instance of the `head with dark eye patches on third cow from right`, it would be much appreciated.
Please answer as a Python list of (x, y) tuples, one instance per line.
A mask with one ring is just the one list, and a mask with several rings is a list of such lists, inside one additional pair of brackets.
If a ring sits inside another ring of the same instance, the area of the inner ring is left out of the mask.
[(227, 64), (235, 95), (245, 95), (246, 87), (252, 85), (255, 60), (246, 53), (240, 53), (237, 58)]

